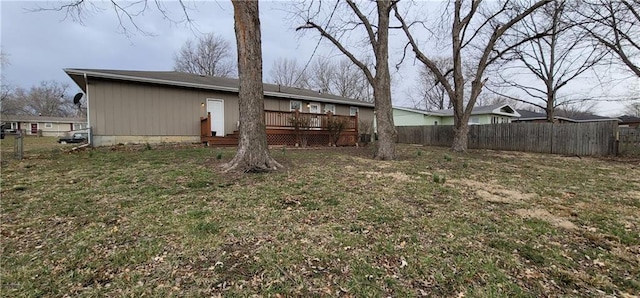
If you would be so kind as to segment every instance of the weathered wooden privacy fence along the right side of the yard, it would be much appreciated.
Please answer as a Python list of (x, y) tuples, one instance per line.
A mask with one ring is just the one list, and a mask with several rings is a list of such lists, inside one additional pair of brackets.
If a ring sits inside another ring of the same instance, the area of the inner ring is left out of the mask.
[[(399, 126), (398, 142), (451, 146), (453, 126)], [(616, 154), (615, 121), (592, 123), (508, 123), (469, 126), (470, 149), (564, 155)]]

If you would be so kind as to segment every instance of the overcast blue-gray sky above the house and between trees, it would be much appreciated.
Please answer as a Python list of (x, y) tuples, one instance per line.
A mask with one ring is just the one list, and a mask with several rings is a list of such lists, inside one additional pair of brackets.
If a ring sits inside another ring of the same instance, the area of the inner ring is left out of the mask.
[[(152, 1), (150, 1), (152, 2)], [(64, 12), (31, 12), (38, 7), (51, 7), (58, 2), (1, 1), (0, 46), (7, 54), (9, 65), (2, 68), (3, 84), (28, 88), (40, 81), (55, 80), (76, 88), (63, 68), (101, 68), (122, 70), (171, 70), (174, 54), (188, 39), (200, 33), (215, 32), (235, 45), (233, 9), (230, 1), (189, 2), (192, 26), (176, 24), (163, 18), (155, 8), (147, 9), (135, 19), (146, 33), (136, 31), (126, 23), (130, 34), (123, 34), (117, 15), (102, 4), (104, 11), (94, 10), (84, 15), (83, 23), (65, 19)], [(101, 5), (100, 2), (92, 2)], [(173, 20), (184, 17), (175, 1), (161, 2)], [(287, 20), (290, 3), (261, 1), (262, 49), (264, 78), (276, 58), (297, 58), (306, 63), (318, 42), (318, 34), (304, 36), (294, 31)], [(400, 42), (402, 44), (402, 42)], [(398, 60), (398, 47), (392, 45), (392, 59)], [(326, 42), (316, 56), (342, 58)], [(405, 90), (415, 82), (416, 67), (405, 63), (393, 73), (394, 105), (410, 106)], [(628, 85), (625, 83), (623, 85)], [(640, 84), (638, 80), (631, 84)], [(624, 89), (617, 85), (618, 89)], [(79, 89), (78, 89), (79, 90)], [(75, 91), (75, 90), (74, 90)], [(604, 115), (621, 112), (622, 104), (603, 102), (597, 111)]]

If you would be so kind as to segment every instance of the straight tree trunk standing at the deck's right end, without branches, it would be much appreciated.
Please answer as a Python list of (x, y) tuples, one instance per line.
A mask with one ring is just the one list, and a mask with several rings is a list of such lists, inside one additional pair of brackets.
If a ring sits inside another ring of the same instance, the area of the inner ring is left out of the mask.
[(376, 123), (378, 126), (378, 151), (375, 158), (392, 160), (396, 157), (397, 131), (393, 123), (391, 106), (391, 75), (389, 74), (389, 13), (391, 2), (378, 2), (378, 39), (374, 46), (376, 76), (373, 84)]

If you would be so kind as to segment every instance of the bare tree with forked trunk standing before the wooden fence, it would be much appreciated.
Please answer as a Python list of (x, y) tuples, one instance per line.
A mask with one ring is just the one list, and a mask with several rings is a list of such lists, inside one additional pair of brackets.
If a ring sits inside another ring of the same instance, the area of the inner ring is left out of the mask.
[[(409, 45), (417, 59), (424, 63), (438, 78), (447, 90), (447, 95), (454, 110), (454, 140), (452, 150), (466, 151), (468, 147), (469, 117), (476, 100), (487, 78), (484, 73), (489, 66), (501, 59), (509, 50), (524, 43), (526, 40), (507, 41), (503, 35), (516, 23), (533, 13), (536, 9), (552, 0), (540, 0), (528, 5), (526, 2), (501, 1), (488, 3), (481, 7), (481, 0), (453, 2), (453, 16), (451, 18), (451, 53), (453, 57), (453, 84), (447, 78), (447, 70), (441, 69), (419, 47), (411, 29), (399, 10), (395, 8), (395, 16), (400, 20), (402, 29), (409, 39)], [(495, 6), (492, 9), (491, 6)], [(528, 38), (527, 38), (528, 39)], [(474, 58), (473, 62), (465, 59)], [(474, 65), (465, 76), (465, 65)], [(470, 84), (469, 95), (465, 96), (466, 85)]]

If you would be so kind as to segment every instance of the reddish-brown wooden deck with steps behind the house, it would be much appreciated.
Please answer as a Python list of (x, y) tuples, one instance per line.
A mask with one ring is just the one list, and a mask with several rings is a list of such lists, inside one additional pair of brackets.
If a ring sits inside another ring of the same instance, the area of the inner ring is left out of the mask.
[[(355, 146), (358, 143), (358, 115), (339, 116), (282, 111), (265, 111), (267, 143), (284, 146), (331, 146), (331, 125), (340, 121), (344, 129), (338, 138), (338, 146)], [(209, 146), (238, 145), (238, 131), (225, 136), (211, 136), (211, 115), (200, 118), (200, 140)]]

